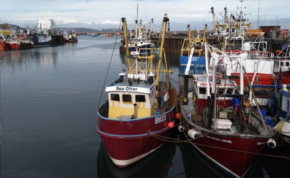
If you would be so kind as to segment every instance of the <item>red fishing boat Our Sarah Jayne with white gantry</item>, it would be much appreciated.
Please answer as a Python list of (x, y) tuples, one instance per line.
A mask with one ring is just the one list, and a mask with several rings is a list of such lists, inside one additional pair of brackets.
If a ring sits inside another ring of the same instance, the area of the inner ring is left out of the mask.
[[(271, 138), (274, 131), (266, 124), (258, 105), (256, 111), (252, 106), (243, 104), (244, 74), (249, 83), (245, 66), (242, 65), (247, 53), (218, 55), (211, 52), (211, 56), (217, 59), (239, 58), (241, 80), (238, 88), (234, 81), (228, 80), (225, 65), (220, 60), (215, 60), (214, 70), (210, 73), (208, 51), (213, 49), (209, 49), (209, 45), (205, 43), (206, 74), (200, 77), (202, 82), (194, 75), (191, 80), (188, 75), (183, 76), (183, 89), (180, 90), (182, 124), (179, 130), (184, 132), (188, 141), (199, 152), (222, 170), (231, 176), (243, 177), (255, 160), (255, 153), (259, 153), (265, 144), (275, 147), (275, 141)], [(206, 89), (198, 87), (198, 84), (206, 85)], [(253, 92), (251, 86), (249, 88)], [(227, 106), (227, 100), (232, 97), (239, 100), (238, 109), (235, 109), (235, 103), (234, 107)], [(201, 101), (204, 98), (207, 102)], [(254, 99), (256, 100), (255, 97)]]

